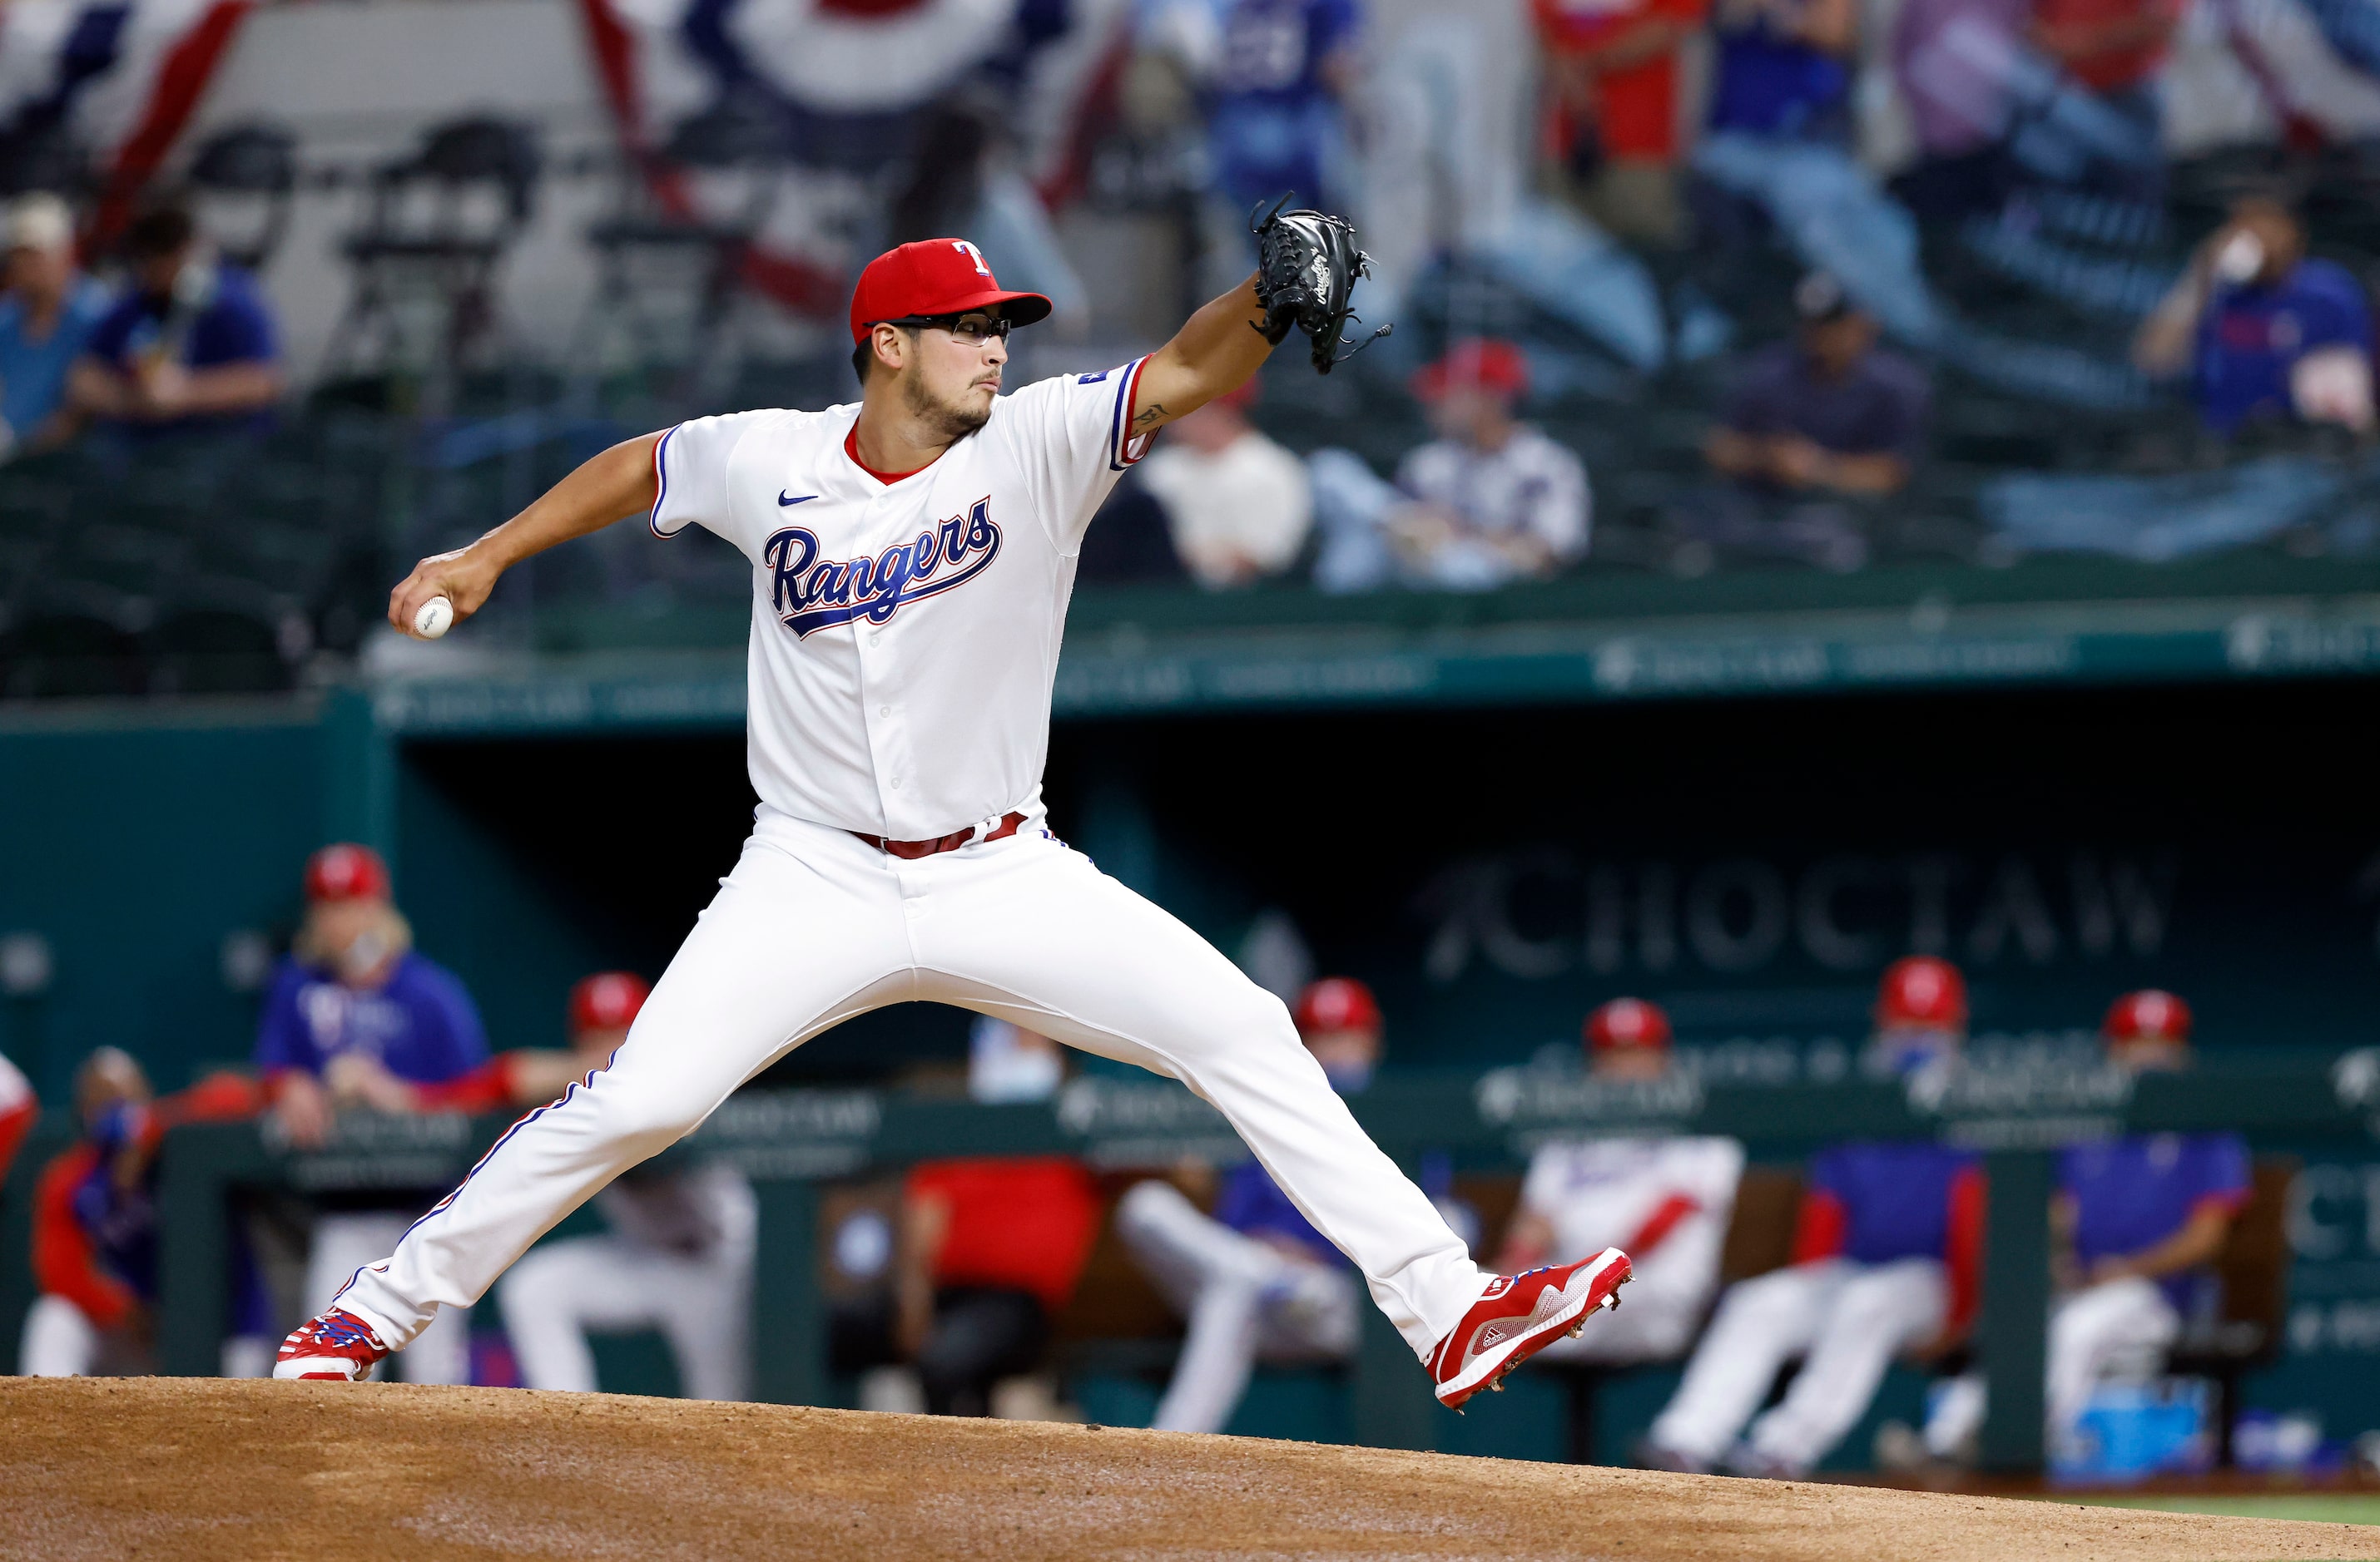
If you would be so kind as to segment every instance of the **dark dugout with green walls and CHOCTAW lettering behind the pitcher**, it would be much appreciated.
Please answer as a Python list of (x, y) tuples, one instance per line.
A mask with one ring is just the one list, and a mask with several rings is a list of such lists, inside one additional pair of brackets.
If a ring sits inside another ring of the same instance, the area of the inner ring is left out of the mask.
[[(7, 999), (0, 1046), (52, 1101), (100, 1039), (164, 1087), (240, 1058), (236, 946), (286, 932), (326, 837), (393, 849), (424, 949), (466, 975), (497, 1046), (555, 1044), (566, 982), (657, 970), (733, 861), (752, 799), (728, 682), (540, 673), (10, 716), (0, 934), (36, 932), (50, 975)], [(1228, 951), (1285, 920), (1316, 968), (1371, 980), (1390, 1067), (1518, 1063), (1637, 991), (1752, 1077), (1854, 1041), (1875, 970), (1925, 941), (1968, 968), (1985, 1032), (2087, 1029), (2113, 991), (2168, 984), (2209, 1051), (2370, 1039), (2366, 680), (1523, 694), (1119, 708), (1061, 685), (1052, 823)], [(962, 1037), (952, 1010), (888, 1010), (771, 1084), (883, 1079)], [(2363, 1305), (2361, 1163), (2320, 1155), (2292, 1217), (2328, 1234), (2297, 1253), (2318, 1339), (2247, 1396), (2347, 1417), (2380, 1386), (2342, 1312)], [(1252, 1403), (1316, 1434), (1333, 1393), (1273, 1379)], [(1602, 1441), (1659, 1393), (1606, 1393)], [(1559, 1448), (1559, 1400), (1518, 1419)]]

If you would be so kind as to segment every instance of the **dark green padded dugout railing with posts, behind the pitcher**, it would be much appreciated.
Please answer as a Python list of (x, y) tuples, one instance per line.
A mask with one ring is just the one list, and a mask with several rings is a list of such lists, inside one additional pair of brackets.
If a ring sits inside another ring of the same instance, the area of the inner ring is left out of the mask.
[[(1466, 1170), (1514, 1170), (1547, 1139), (1730, 1134), (1754, 1160), (1785, 1160), (1847, 1139), (1947, 1139), (1985, 1153), (1990, 1210), (1975, 1355), (1992, 1384), (1983, 1467), (2044, 1465), (2042, 1367), (2049, 1310), (2049, 1196), (2056, 1148), (2121, 1132), (2232, 1129), (2259, 1148), (2380, 1139), (2380, 1048), (2344, 1058), (2242, 1053), (2185, 1075), (2125, 1075), (2087, 1060), (1961, 1067), (1911, 1082), (1704, 1084), (1490, 1075), (1404, 1075), (1352, 1101), (1373, 1139), (1409, 1170), (1449, 1153)], [(157, 1365), (207, 1377), (231, 1310), (233, 1193), (288, 1189), (340, 1196), (455, 1184), (505, 1117), (343, 1117), (317, 1151), (276, 1141), (271, 1125), (188, 1125), (164, 1141), (157, 1213)], [(24, 1146), (0, 1205), (0, 1341), (14, 1346), (31, 1300), (29, 1224), (38, 1167), (67, 1125), (50, 1113)], [(752, 1393), (764, 1403), (831, 1403), (828, 1315), (819, 1272), (821, 1186), (945, 1155), (1081, 1155), (1095, 1167), (1161, 1170), (1185, 1155), (1245, 1155), (1228, 1122), (1166, 1079), (1081, 1077), (1054, 1103), (973, 1106), (895, 1091), (745, 1091), (671, 1155), (724, 1158), (759, 1198)], [(1357, 1443), (1433, 1448), (1428, 1379), (1388, 1322), (1366, 1308), (1349, 1372)]]

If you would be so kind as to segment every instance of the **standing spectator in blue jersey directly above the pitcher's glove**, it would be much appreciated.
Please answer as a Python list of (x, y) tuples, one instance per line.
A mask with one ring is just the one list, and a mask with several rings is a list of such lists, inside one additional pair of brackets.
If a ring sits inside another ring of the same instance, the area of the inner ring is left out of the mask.
[(1342, 97), (1354, 81), (1357, 0), (1221, 0), (1221, 38), (1207, 86), (1214, 183), (1242, 219), (1259, 200), (1347, 204)]

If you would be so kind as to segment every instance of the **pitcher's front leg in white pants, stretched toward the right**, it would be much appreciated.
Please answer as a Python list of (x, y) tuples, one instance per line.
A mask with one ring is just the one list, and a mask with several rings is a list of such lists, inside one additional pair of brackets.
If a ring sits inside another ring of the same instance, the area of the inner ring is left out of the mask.
[(1488, 1289), (1397, 1163), (1357, 1127), (1280, 999), (1204, 939), (1042, 837), (914, 863), (919, 996), (1171, 1075), (1211, 1101), (1290, 1203), (1428, 1358)]

